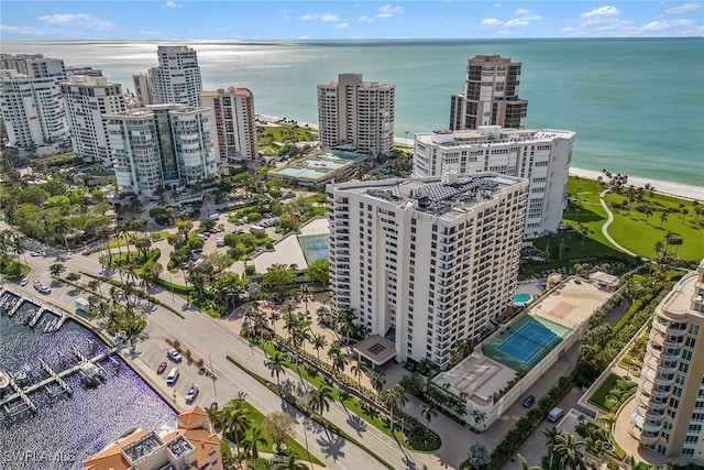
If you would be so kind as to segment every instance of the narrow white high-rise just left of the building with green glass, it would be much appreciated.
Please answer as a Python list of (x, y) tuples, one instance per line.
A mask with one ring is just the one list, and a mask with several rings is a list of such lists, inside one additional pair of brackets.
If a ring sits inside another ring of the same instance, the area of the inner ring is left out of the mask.
[(74, 156), (111, 166), (103, 114), (127, 109), (122, 86), (106, 77), (72, 75), (61, 84), (66, 100)]

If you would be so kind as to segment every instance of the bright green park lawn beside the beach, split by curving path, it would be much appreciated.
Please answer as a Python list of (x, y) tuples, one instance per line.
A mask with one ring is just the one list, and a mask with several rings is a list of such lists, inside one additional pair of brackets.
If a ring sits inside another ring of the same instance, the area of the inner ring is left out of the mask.
[[(593, 249), (614, 249), (602, 233), (602, 226), (607, 220), (606, 211), (598, 199), (602, 190), (604, 188), (594, 179), (570, 176), (566, 193), (572, 204), (564, 212), (563, 221), (573, 227), (582, 225), (588, 230), (588, 238), (597, 243)], [(616, 242), (640, 256), (651, 258), (654, 254), (656, 242), (662, 241), (668, 232), (673, 232), (684, 240), (676, 255), (691, 261), (704, 258), (704, 243), (697, 242), (704, 238), (704, 230), (695, 223), (694, 206), (691, 201), (657, 193), (651, 197), (646, 192), (642, 201), (631, 201), (628, 209), (624, 209), (620, 205), (625, 199), (627, 200), (625, 194), (607, 193), (605, 196), (614, 211), (614, 222), (609, 226), (608, 232)], [(637, 210), (639, 206), (649, 206), (652, 215), (647, 216)], [(682, 208), (688, 209), (689, 214), (682, 214)], [(661, 223), (660, 215), (663, 211), (667, 212), (667, 220)], [(574, 251), (573, 247), (571, 250)], [(584, 251), (587, 251), (587, 242)]]

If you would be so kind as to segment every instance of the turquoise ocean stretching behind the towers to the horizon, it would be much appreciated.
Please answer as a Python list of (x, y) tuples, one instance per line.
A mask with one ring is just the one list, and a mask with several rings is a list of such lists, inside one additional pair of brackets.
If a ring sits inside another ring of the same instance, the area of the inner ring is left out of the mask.
[(316, 123), (316, 86), (340, 73), (396, 85), (399, 138), (447, 129), (450, 96), (466, 59), (501, 54), (522, 63), (527, 127), (578, 133), (572, 165), (704, 186), (704, 39), (52, 41), (0, 44), (91, 66), (133, 90), (157, 65), (156, 47), (198, 52), (205, 89), (246, 87), (257, 113)]

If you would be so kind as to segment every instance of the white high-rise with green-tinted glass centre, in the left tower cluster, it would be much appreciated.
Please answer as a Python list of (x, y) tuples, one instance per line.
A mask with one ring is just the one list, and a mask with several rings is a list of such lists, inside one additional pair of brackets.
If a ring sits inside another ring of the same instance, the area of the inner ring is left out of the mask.
[(161, 186), (193, 186), (217, 176), (209, 109), (152, 105), (105, 118), (122, 190), (151, 196)]

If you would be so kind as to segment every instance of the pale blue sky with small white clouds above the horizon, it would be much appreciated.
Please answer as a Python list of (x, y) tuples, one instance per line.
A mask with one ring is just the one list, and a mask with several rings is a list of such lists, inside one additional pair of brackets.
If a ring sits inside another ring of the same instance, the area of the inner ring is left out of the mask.
[(704, 36), (698, 1), (7, 1), (0, 39)]

